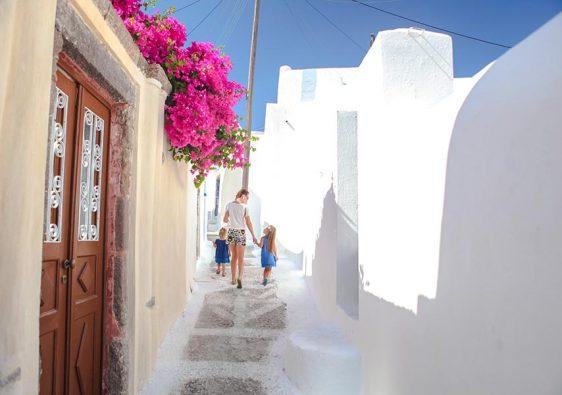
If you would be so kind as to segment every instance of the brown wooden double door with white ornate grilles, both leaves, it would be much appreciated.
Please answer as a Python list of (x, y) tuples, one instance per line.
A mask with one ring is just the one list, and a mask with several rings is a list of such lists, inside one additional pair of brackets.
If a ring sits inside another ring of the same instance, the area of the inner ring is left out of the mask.
[(110, 111), (62, 68), (49, 131), (40, 393), (101, 393)]

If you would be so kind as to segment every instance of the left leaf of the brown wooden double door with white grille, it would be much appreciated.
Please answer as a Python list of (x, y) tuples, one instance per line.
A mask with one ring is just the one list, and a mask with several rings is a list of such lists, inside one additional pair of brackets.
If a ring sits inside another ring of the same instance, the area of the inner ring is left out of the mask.
[(70, 256), (72, 166), (78, 87), (57, 72), (49, 131), (47, 188), (39, 318), (40, 391), (62, 394), (65, 386), (67, 281), (63, 263)]

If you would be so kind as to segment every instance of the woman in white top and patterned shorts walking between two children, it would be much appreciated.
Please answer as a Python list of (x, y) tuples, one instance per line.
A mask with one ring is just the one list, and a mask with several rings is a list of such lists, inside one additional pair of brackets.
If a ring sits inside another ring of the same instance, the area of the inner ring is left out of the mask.
[(250, 193), (247, 189), (241, 189), (236, 194), (236, 200), (226, 205), (224, 222), (228, 224), (228, 236), (226, 243), (230, 250), (231, 262), (230, 273), (232, 275), (231, 284), (238, 284), (237, 288), (242, 288), (242, 276), (244, 274), (244, 249), (246, 248), (246, 226), (252, 234), (254, 244), (258, 243), (254, 235), (254, 226), (248, 215), (246, 204)]

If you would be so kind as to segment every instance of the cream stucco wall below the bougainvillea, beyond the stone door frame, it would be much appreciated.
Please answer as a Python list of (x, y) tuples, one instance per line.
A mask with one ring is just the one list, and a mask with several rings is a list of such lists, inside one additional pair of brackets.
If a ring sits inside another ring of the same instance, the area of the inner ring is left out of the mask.
[(195, 265), (195, 231), (188, 229), (196, 223), (189, 212), (196, 190), (185, 164), (173, 161), (168, 152), (163, 134), (165, 92), (154, 80), (147, 89), (153, 92), (145, 113), (147, 134), (139, 138), (144, 149), (139, 151), (142, 159), (137, 173), (137, 196), (142, 202), (137, 206), (140, 240), (135, 317), (139, 386), (150, 377), (158, 346), (183, 311)]

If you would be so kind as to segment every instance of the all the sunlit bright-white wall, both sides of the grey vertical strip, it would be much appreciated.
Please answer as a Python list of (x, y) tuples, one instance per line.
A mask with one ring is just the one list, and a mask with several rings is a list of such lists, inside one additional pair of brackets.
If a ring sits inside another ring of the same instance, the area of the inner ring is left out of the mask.
[(357, 111), (358, 156), (348, 165), (363, 169), (352, 199), (366, 230), (362, 284), (412, 311), (418, 295), (435, 296), (447, 148), (473, 83), (453, 79), (450, 37), (413, 29), (380, 32), (357, 68), (281, 68), (256, 190), (262, 220), (278, 226), (288, 249), (304, 252), (308, 275), (328, 266), (315, 254), (324, 198), (332, 186), (338, 195), (338, 111)]

